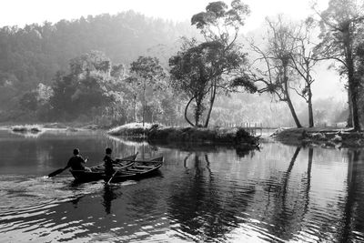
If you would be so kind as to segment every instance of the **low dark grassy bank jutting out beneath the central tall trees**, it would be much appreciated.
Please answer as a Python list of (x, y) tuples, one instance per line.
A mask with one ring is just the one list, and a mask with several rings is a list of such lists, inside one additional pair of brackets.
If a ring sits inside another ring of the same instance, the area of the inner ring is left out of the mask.
[(159, 143), (215, 143), (258, 145), (258, 137), (248, 134), (243, 128), (201, 128), (201, 127), (162, 127), (157, 124), (126, 124), (108, 131), (113, 136), (147, 137)]

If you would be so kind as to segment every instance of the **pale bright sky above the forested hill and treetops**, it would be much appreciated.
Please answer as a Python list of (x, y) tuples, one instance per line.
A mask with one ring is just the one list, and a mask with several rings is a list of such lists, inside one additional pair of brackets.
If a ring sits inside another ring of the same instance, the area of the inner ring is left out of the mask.
[[(0, 26), (22, 27), (26, 24), (41, 24), (45, 20), (56, 23), (61, 19), (71, 20), (105, 13), (113, 15), (130, 9), (156, 18), (189, 21), (192, 15), (204, 11), (206, 5), (213, 1), (215, 0), (5, 0), (0, 8)], [(310, 5), (313, 1), (315, 0), (242, 0), (251, 9), (244, 31), (262, 26), (266, 16), (284, 14), (293, 19), (305, 18), (312, 14)], [(325, 9), (329, 3), (329, 0), (316, 1), (319, 9)], [(228, 4), (230, 0), (225, 2)], [(315, 82), (313, 87), (318, 90), (319, 96), (346, 98), (343, 85), (335, 74), (320, 70), (318, 76), (323, 81)]]

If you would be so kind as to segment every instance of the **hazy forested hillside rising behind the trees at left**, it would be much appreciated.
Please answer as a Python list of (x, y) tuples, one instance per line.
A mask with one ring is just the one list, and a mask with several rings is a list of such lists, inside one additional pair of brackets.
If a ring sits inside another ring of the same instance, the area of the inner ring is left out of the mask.
[(49, 85), (70, 59), (91, 50), (104, 52), (113, 63), (128, 65), (142, 55), (157, 56), (163, 63), (178, 47), (180, 36), (194, 33), (188, 22), (174, 23), (133, 11), (24, 28), (2, 27), (0, 102), (39, 83)]

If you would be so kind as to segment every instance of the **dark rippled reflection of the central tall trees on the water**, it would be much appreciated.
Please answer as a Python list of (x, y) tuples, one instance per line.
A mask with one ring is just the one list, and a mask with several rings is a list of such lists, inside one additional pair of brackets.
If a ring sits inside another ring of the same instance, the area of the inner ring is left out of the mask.
[(186, 174), (188, 178), (182, 178), (177, 185), (184, 189), (172, 186), (168, 213), (170, 218), (177, 220), (184, 233), (197, 240), (226, 238), (232, 228), (238, 227), (237, 216), (248, 207), (248, 201), (254, 196), (254, 187), (248, 190), (249, 193), (240, 192), (233, 186), (225, 191), (220, 179), (211, 172), (207, 154), (203, 158), (198, 153), (194, 155), (193, 165), (188, 167)]

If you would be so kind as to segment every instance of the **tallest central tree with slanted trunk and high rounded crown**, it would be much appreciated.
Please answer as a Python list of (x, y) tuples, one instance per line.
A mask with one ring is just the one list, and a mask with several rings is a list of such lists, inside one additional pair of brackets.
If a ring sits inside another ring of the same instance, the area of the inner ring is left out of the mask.
[(239, 31), (245, 25), (245, 19), (250, 14), (248, 5), (240, 0), (233, 0), (230, 8), (222, 1), (209, 3), (206, 12), (193, 15), (191, 24), (204, 36), (206, 43), (220, 45), (217, 58), (211, 65), (214, 67), (213, 75), (209, 78), (210, 98), (209, 108), (204, 127), (208, 126), (211, 111), (217, 96), (217, 88), (227, 88), (230, 82), (227, 76), (246, 65), (246, 54), (241, 52), (237, 39)]

